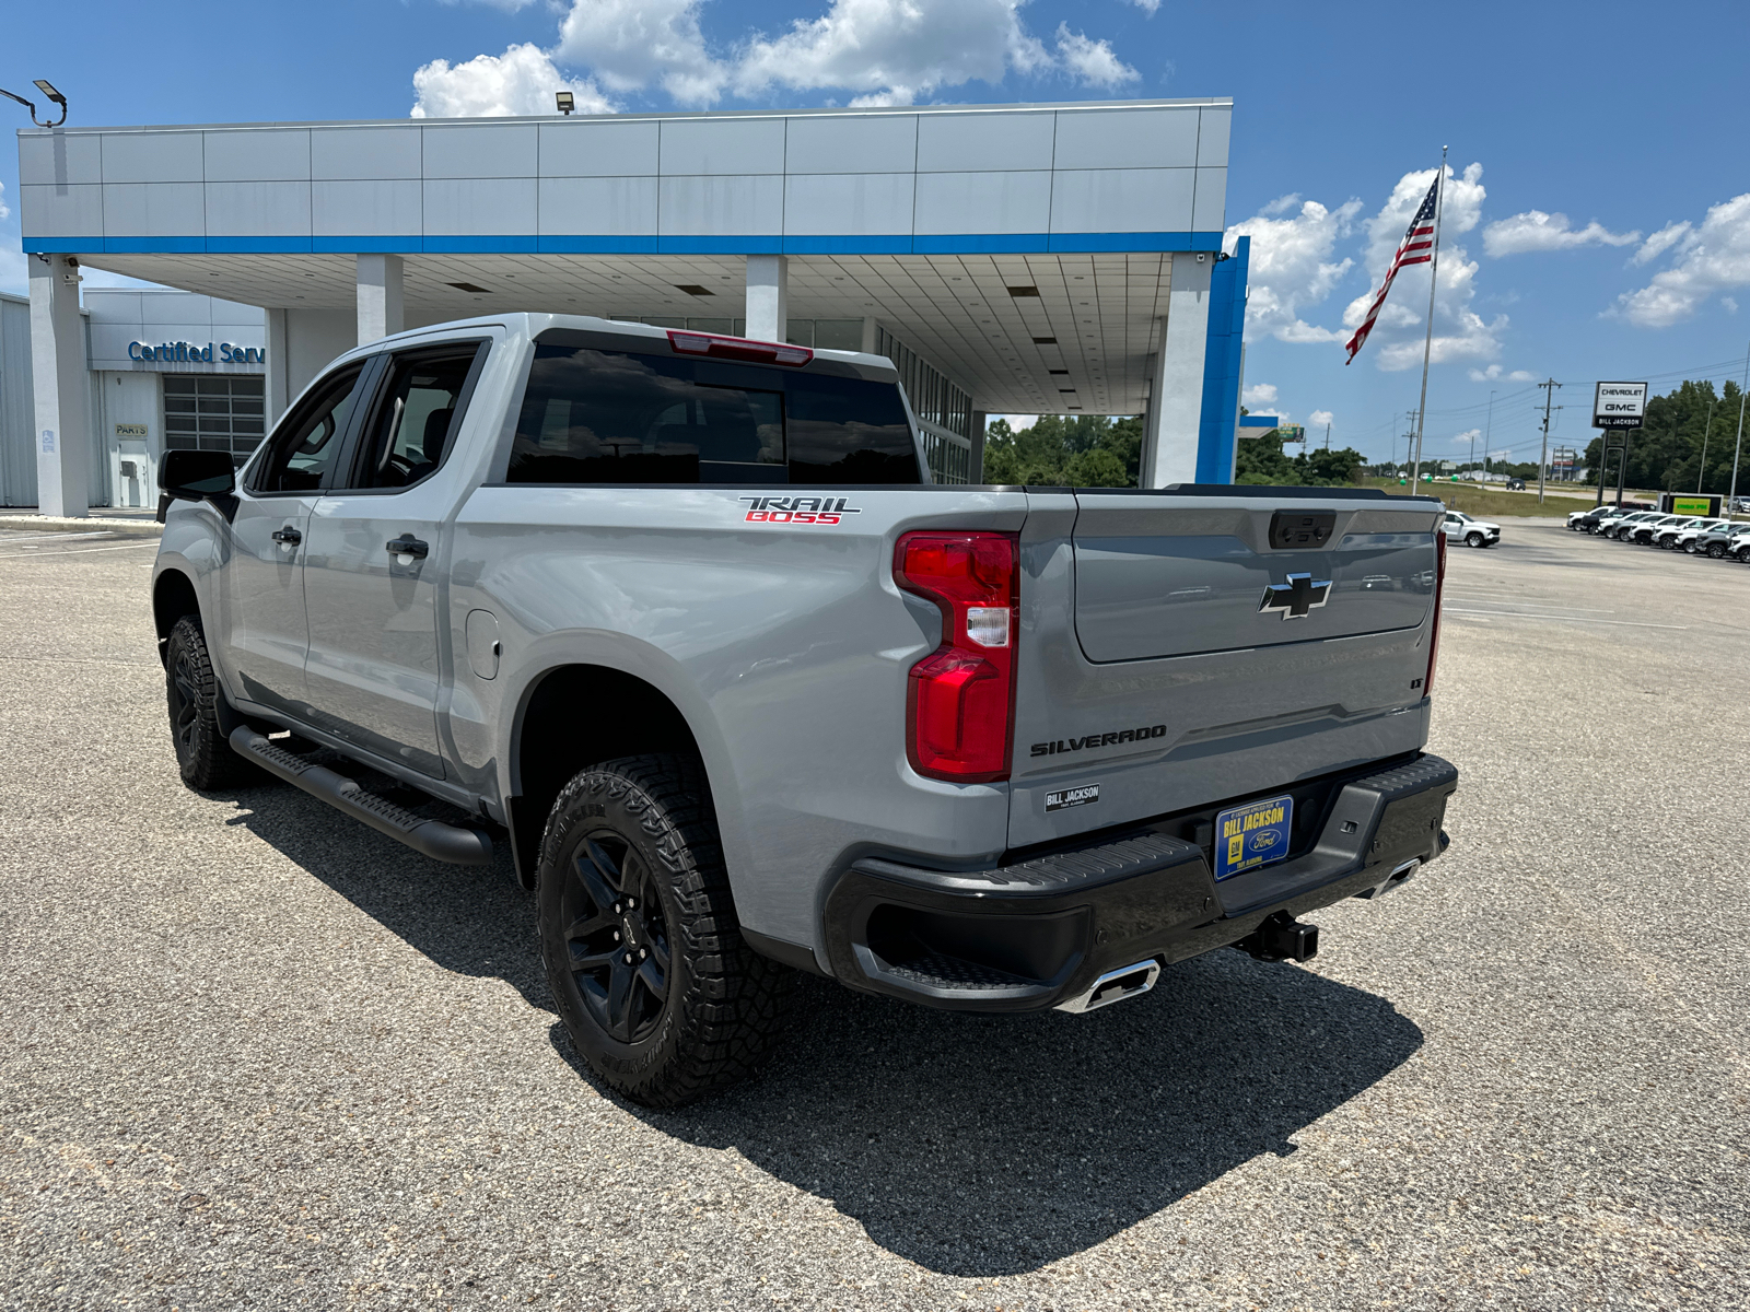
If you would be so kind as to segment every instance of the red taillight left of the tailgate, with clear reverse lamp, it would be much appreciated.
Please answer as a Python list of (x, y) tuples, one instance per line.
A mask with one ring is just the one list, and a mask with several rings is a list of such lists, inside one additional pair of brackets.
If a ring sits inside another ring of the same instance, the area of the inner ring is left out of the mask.
[(912, 666), (905, 754), (956, 784), (1008, 778), (1020, 581), (1013, 534), (920, 532), (900, 539), (892, 577), (942, 609), (942, 646)]

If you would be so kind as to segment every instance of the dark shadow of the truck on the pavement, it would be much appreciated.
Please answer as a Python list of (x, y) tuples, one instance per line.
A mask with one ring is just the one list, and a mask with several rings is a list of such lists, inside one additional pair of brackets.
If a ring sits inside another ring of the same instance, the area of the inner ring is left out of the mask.
[[(494, 869), (430, 862), (290, 789), (238, 805), (236, 824), (436, 964), (551, 1011), (534, 897), (508, 854)], [(565, 1030), (550, 1034), (607, 1093)], [(1013, 1275), (1288, 1156), (1292, 1135), (1421, 1043), (1384, 997), (1227, 950), (1085, 1016), (928, 1011), (802, 976), (791, 1034), (754, 1079), (679, 1111), (616, 1102), (662, 1134), (737, 1149), (920, 1267)]]

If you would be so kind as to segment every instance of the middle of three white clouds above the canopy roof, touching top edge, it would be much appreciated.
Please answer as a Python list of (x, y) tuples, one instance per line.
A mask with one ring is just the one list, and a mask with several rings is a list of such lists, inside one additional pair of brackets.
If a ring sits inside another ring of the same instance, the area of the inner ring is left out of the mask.
[(679, 105), (712, 105), (730, 68), (705, 49), (700, 0), (574, 0), (553, 58), (590, 68), (609, 91), (662, 86)]

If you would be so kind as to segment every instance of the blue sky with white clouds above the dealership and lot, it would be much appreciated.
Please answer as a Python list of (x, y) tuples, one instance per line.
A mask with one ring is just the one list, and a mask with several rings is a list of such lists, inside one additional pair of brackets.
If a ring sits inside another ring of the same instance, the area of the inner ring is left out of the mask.
[[(0, 86), (47, 77), (80, 124), (544, 112), (560, 84), (626, 110), (1230, 94), (1248, 402), (1320, 439), (1328, 413), (1334, 444), (1377, 458), (1416, 406), (1426, 273), (1400, 276), (1349, 367), (1344, 317), (1449, 143), (1428, 451), (1465, 455), (1493, 392), (1489, 448), (1535, 458), (1533, 380), (1564, 383), (1552, 432), (1584, 444), (1592, 380), (1743, 371), (1743, 19), (1741, 2), (14, 5)], [(16, 173), (0, 150), (7, 290)]]

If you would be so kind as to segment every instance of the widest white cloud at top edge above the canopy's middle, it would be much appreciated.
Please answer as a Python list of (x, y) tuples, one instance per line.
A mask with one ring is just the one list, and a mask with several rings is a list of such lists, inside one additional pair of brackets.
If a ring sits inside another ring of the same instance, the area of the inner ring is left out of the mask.
[(1010, 68), (1040, 72), (1052, 66), (1052, 56), (1022, 24), (1022, 3), (833, 0), (821, 17), (796, 19), (770, 40), (751, 40), (735, 70), (735, 89), (758, 96), (772, 86), (844, 87), (861, 93), (852, 105), (910, 105), (940, 87), (1001, 82)]

